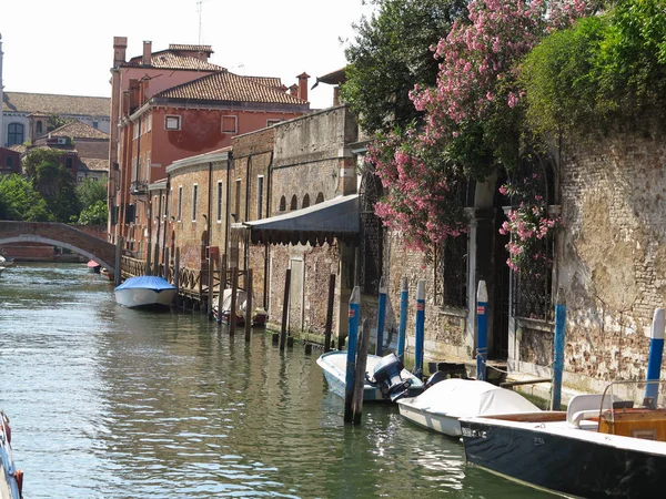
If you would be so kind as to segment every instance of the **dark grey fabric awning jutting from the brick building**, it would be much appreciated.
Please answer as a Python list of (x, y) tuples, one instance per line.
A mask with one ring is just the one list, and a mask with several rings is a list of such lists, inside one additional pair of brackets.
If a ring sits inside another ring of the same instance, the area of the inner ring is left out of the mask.
[(345, 242), (359, 235), (359, 194), (337, 196), (306, 208), (251, 222), (232, 224), (232, 231), (249, 230), (252, 243), (305, 244), (334, 238)]

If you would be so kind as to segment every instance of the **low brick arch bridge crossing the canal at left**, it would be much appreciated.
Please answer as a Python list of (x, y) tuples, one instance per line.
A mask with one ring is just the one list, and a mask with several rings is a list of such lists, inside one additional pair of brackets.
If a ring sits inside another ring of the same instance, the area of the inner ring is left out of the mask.
[(0, 244), (43, 243), (62, 246), (115, 273), (115, 245), (67, 224), (0, 221)]

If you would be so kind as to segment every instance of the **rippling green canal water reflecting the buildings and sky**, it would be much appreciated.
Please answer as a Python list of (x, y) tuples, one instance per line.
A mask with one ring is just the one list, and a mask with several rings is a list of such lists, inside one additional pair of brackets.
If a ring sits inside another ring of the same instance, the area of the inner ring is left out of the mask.
[(17, 263), (0, 276), (0, 408), (24, 498), (549, 497), (466, 466), (395, 407), (344, 425), (319, 353), (122, 308), (84, 264)]

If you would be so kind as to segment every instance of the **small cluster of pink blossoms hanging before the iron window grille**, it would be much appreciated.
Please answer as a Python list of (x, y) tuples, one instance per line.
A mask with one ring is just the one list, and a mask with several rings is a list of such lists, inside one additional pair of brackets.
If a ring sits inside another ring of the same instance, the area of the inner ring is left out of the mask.
[(547, 244), (553, 231), (561, 224), (561, 218), (551, 216), (546, 200), (537, 194), (539, 175), (534, 173), (517, 184), (504, 184), (500, 192), (519, 204), (507, 213), (500, 233), (509, 234), (506, 245), (508, 259), (506, 264), (512, 271), (529, 273), (539, 279), (551, 267)]

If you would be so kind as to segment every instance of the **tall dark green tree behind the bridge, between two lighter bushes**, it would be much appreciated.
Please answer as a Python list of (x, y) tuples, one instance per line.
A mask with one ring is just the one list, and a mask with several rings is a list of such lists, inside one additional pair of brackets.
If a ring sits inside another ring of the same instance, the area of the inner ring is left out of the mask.
[(54, 149), (33, 150), (26, 156), (23, 167), (56, 220), (67, 223), (79, 215), (80, 208), (74, 179), (61, 163), (63, 154)]

